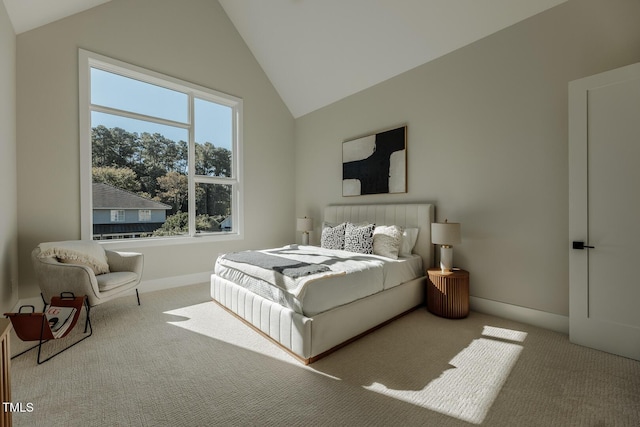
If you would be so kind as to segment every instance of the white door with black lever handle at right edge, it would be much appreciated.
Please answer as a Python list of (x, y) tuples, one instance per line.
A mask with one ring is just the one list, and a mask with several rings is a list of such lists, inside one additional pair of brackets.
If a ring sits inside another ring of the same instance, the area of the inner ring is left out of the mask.
[(640, 360), (640, 64), (569, 84), (569, 238), (570, 340)]

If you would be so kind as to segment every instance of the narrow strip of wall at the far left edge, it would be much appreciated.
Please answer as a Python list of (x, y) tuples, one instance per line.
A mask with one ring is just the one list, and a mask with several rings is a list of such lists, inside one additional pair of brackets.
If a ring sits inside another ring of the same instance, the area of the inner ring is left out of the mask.
[(18, 300), (16, 35), (0, 2), (0, 310)]

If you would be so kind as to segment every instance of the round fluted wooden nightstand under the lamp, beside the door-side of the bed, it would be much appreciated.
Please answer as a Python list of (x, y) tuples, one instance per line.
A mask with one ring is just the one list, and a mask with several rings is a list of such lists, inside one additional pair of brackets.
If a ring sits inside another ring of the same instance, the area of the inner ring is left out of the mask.
[(427, 270), (427, 309), (438, 316), (460, 319), (469, 315), (469, 272)]

